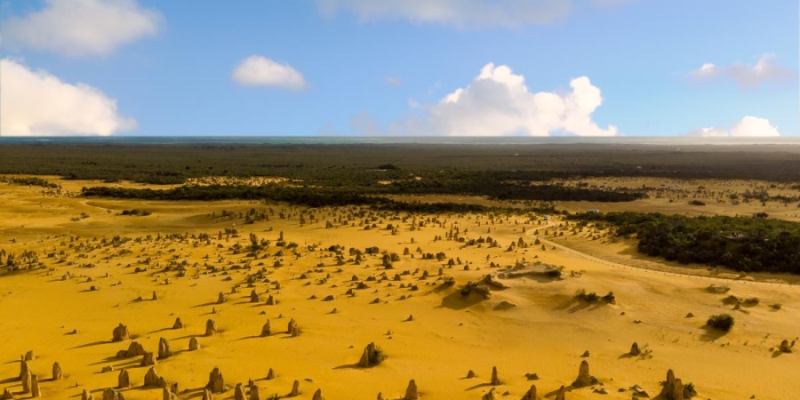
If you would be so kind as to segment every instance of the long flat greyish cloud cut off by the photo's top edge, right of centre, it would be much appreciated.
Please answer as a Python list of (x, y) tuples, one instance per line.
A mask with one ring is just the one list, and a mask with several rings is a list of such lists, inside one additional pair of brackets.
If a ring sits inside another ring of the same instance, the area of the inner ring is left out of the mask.
[(571, 0), (316, 0), (320, 11), (327, 15), (345, 10), (361, 20), (399, 18), (459, 28), (546, 24), (569, 14), (571, 3)]

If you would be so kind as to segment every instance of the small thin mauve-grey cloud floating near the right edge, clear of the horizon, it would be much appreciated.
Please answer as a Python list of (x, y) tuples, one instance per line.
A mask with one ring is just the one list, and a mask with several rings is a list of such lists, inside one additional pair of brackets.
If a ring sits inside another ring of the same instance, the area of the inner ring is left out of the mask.
[(769, 81), (786, 80), (796, 76), (795, 70), (781, 67), (774, 60), (774, 55), (764, 54), (752, 67), (741, 63), (735, 63), (730, 67), (719, 67), (706, 63), (690, 72), (689, 76), (698, 81), (726, 77), (740, 87), (754, 87)]

